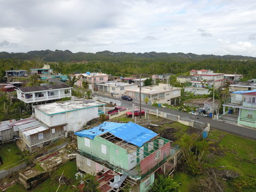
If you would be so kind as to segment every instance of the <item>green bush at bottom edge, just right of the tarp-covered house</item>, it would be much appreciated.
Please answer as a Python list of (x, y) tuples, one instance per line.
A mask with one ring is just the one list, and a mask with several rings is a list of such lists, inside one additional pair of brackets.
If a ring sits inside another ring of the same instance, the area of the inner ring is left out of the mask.
[(178, 191), (180, 183), (175, 182), (170, 176), (157, 175), (154, 185), (151, 186), (153, 192), (176, 192)]

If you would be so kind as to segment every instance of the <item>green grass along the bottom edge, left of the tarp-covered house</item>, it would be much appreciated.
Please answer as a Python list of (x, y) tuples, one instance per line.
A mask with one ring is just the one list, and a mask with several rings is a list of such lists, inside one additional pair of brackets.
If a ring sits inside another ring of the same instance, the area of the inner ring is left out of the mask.
[[(65, 192), (72, 192), (72, 191), (78, 191), (76, 190), (75, 187), (72, 185), (76, 185), (76, 179), (75, 179), (75, 174), (77, 172), (76, 170), (76, 163), (73, 161), (67, 162), (63, 164), (62, 166), (59, 167), (58, 170), (54, 171), (51, 174), (51, 177), (35, 187), (34, 189), (30, 190), (31, 192), (53, 192), (56, 191), (58, 186), (59, 186), (59, 178), (60, 175), (62, 174), (62, 177), (65, 177), (65, 181), (67, 185), (61, 185), (58, 191), (65, 191)], [(7, 189), (6, 192), (25, 192), (26, 189), (20, 184), (16, 183), (9, 189)]]

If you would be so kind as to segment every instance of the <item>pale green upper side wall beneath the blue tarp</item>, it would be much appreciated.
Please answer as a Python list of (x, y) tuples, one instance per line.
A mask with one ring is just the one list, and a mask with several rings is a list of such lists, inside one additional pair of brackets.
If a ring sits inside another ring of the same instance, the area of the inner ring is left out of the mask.
[[(106, 146), (106, 154), (102, 153), (101, 144)], [(92, 154), (93, 156), (99, 157), (115, 166), (129, 170), (127, 150), (122, 147), (118, 147), (114, 143), (101, 137), (94, 137), (93, 140), (90, 139), (90, 148), (85, 146), (84, 137), (77, 137), (77, 147), (85, 153)]]

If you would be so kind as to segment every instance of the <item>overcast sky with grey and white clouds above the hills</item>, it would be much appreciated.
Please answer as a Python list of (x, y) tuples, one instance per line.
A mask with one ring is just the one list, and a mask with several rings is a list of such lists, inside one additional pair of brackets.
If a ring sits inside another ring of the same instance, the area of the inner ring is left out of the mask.
[(0, 51), (256, 57), (255, 0), (0, 0)]

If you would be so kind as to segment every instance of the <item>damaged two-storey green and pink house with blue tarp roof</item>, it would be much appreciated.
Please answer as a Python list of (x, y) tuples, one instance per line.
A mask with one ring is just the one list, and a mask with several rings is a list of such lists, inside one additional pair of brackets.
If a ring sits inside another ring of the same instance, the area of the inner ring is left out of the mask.
[(132, 122), (104, 122), (75, 134), (77, 168), (96, 175), (112, 171), (116, 177), (103, 191), (119, 191), (127, 183), (132, 191), (150, 191), (156, 174), (169, 175), (177, 164), (172, 141)]

